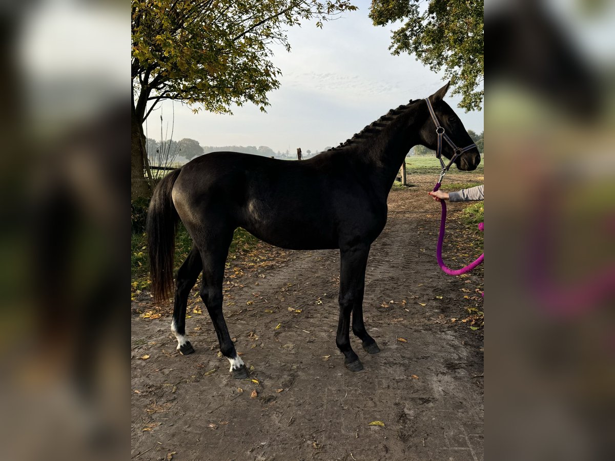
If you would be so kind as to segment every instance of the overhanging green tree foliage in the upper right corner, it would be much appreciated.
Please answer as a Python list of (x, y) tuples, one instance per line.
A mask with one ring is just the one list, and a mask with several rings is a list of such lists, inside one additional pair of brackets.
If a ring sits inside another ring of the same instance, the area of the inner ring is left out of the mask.
[(433, 71), (444, 70), (453, 91), (461, 94), (459, 107), (480, 110), (484, 90), (483, 0), (373, 0), (370, 18), (374, 25), (405, 21), (393, 31), (394, 55), (414, 54)]

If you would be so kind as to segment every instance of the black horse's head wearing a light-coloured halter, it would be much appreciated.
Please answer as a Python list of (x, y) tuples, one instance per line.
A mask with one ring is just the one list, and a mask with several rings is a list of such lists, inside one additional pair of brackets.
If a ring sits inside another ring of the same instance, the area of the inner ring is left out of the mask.
[(422, 102), (426, 105), (426, 118), (421, 138), (429, 149), (441, 152), (447, 159), (454, 158), (459, 170), (472, 171), (480, 164), (480, 154), (457, 114), (443, 100), (448, 85), (450, 82)]

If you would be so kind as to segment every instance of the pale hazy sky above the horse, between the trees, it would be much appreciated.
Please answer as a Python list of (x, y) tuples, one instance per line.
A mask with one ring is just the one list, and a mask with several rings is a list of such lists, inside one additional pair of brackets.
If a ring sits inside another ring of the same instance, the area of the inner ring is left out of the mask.
[[(163, 132), (173, 140), (192, 138), (202, 146), (269, 146), (274, 151), (323, 151), (358, 133), (389, 109), (424, 98), (446, 82), (438, 74), (404, 54), (393, 56), (391, 27), (376, 27), (368, 18), (369, 1), (354, 1), (359, 10), (324, 23), (288, 30), (290, 53), (278, 47), (273, 63), (281, 71), (280, 88), (269, 93), (267, 113), (246, 104), (233, 115), (201, 111), (175, 101), (159, 104), (146, 120), (146, 134), (159, 140)], [(456, 109), (466, 129), (483, 130), (483, 112), (457, 108), (459, 95), (446, 101)], [(168, 123), (168, 127), (167, 127)]]

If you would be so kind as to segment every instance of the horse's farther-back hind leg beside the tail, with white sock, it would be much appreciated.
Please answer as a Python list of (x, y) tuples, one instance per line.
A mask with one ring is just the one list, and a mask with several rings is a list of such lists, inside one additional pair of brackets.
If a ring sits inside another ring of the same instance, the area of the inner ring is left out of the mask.
[(175, 277), (175, 307), (173, 308), (171, 331), (177, 337), (177, 350), (182, 355), (194, 352), (192, 344), (186, 339), (186, 305), (190, 290), (196, 283), (202, 268), (199, 250), (196, 245), (192, 245), (188, 258), (181, 265)]

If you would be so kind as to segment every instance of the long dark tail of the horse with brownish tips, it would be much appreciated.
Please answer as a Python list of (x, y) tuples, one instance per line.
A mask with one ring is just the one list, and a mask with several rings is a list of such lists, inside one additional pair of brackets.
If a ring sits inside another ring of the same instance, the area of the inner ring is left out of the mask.
[(173, 290), (173, 256), (179, 215), (171, 192), (181, 170), (173, 170), (157, 184), (149, 202), (148, 234), (151, 293), (155, 302), (164, 302)]

